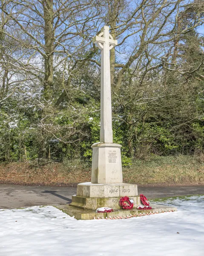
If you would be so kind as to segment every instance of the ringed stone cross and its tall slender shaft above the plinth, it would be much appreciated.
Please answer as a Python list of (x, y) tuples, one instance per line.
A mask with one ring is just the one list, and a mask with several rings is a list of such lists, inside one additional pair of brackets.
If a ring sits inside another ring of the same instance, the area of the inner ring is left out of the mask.
[(101, 33), (93, 38), (101, 49), (101, 130), (100, 142), (112, 143), (112, 107), (110, 84), (110, 49), (118, 44), (109, 34), (109, 26), (103, 26)]

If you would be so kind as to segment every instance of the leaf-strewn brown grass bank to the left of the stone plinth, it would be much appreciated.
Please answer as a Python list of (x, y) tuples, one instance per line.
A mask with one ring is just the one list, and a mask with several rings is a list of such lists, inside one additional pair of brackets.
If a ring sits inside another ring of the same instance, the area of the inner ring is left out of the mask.
[(91, 169), (83, 165), (48, 163), (41, 167), (30, 163), (0, 164), (0, 183), (26, 185), (68, 185), (91, 179)]

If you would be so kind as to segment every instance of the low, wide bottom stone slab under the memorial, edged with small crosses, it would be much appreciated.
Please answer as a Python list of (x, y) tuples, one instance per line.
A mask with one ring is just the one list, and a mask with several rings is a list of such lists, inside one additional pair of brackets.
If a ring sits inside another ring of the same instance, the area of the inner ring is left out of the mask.
[(60, 207), (57, 207), (58, 209), (62, 210), (66, 214), (68, 214), (71, 217), (76, 218), (77, 220), (92, 220), (92, 219), (98, 219), (98, 218), (129, 218), (129, 217), (139, 217), (144, 215), (150, 215), (150, 214), (157, 214), (162, 212), (169, 212), (169, 211), (177, 211), (176, 207), (168, 207), (164, 205), (158, 205), (158, 204), (151, 204), (152, 209), (151, 210), (138, 210), (137, 208), (133, 208), (131, 210), (124, 210), (124, 209), (115, 209), (113, 212), (96, 212), (95, 210), (83, 210), (78, 209), (75, 207), (71, 207), (69, 205), (61, 205)]

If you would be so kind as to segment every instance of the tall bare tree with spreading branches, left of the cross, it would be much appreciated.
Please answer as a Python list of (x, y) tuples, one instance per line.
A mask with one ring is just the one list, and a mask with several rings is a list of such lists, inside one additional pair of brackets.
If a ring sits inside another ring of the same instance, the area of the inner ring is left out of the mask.
[(76, 54), (90, 44), (87, 37), (99, 15), (96, 1), (6, 0), (1, 10), (10, 17), (15, 30), (23, 34), (22, 38), (17, 38), (14, 31), (7, 35), (31, 50), (29, 58), (33, 62), (43, 58), (44, 96), (49, 99), (53, 71), (63, 61), (73, 62)]

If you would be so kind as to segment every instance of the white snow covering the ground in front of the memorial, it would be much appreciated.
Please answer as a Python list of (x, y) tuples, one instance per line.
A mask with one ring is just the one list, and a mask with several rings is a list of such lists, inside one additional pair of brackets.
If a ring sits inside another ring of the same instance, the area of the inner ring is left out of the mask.
[(204, 196), (167, 212), (77, 221), (52, 206), (0, 210), (0, 256), (204, 256)]

